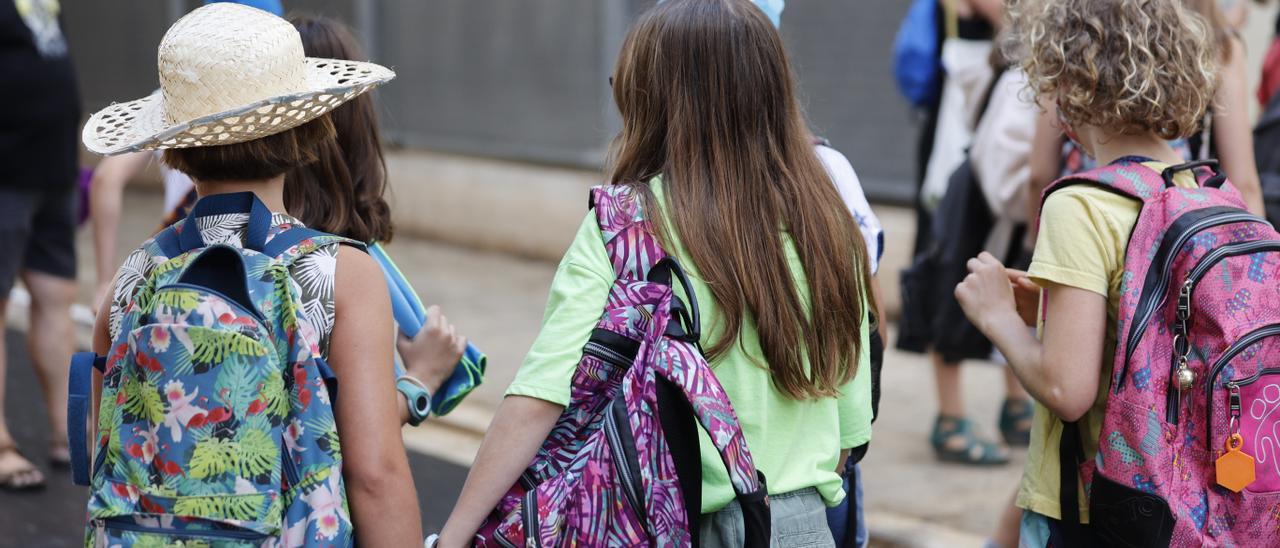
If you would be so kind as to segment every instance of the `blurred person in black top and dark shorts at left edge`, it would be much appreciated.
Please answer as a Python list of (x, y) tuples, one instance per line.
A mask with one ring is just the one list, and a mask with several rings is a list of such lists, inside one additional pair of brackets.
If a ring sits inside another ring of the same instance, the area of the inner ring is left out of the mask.
[[(74, 184), (79, 93), (58, 22), (56, 0), (0, 0), (0, 311), (17, 279), (31, 294), (27, 348), (49, 411), (54, 466), (67, 449), (67, 364), (74, 333)], [(0, 333), (5, 318), (0, 314)], [(0, 488), (44, 485), (45, 476), (18, 452), (5, 420), (4, 338), (0, 337)]]

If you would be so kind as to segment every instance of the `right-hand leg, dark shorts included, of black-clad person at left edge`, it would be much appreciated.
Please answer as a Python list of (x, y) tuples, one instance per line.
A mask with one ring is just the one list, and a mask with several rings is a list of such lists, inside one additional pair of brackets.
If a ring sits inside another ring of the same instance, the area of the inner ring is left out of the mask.
[(67, 449), (67, 375), (76, 351), (70, 306), (76, 300), (76, 216), (70, 188), (42, 192), (32, 220), (22, 280), (31, 293), (27, 350), (49, 411), (50, 460), (70, 462)]

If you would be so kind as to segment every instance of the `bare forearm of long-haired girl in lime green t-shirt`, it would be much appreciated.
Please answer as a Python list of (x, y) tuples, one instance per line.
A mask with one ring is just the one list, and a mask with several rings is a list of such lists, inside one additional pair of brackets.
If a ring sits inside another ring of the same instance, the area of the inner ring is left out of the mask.
[(471, 545), (480, 524), (534, 460), (562, 412), (564, 407), (538, 398), (508, 396), (502, 401), (436, 547)]

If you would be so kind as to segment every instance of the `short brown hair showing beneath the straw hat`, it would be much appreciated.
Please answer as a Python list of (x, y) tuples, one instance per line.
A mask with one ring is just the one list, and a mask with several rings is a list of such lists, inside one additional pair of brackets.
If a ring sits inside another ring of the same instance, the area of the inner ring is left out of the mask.
[(320, 117), (253, 141), (169, 149), (164, 163), (201, 182), (270, 179), (319, 160), (317, 151), (333, 137), (333, 123)]

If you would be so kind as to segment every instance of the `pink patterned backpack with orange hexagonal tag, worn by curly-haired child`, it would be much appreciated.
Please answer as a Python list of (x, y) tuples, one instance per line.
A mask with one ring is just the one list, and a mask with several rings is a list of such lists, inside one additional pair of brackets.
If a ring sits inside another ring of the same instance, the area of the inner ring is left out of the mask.
[[(1244, 210), (1216, 161), (1162, 173), (1142, 161), (1044, 191), (1098, 184), (1143, 204), (1096, 461), (1080, 463), (1075, 424), (1062, 434), (1064, 529), (1087, 535), (1071, 545), (1277, 545), (1280, 234)], [(1174, 186), (1187, 170), (1198, 188)]]

